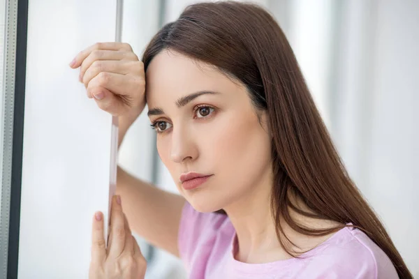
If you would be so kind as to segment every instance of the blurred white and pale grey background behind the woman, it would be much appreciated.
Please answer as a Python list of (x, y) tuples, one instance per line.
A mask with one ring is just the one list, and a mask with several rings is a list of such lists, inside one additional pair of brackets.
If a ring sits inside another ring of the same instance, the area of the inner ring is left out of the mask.
[[(123, 40), (140, 56), (160, 24), (196, 2), (126, 0)], [(286, 33), (349, 173), (419, 278), (419, 1), (253, 2)], [(152, 162), (144, 160), (150, 153)], [(119, 161), (177, 192), (156, 156), (145, 115), (126, 135)], [(148, 278), (186, 278), (178, 259), (153, 251)]]

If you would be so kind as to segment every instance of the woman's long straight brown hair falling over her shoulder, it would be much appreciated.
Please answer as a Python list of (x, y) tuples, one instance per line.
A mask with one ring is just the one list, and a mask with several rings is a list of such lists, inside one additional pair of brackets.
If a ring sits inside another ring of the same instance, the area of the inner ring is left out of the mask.
[[(154, 56), (166, 49), (212, 64), (240, 80), (256, 109), (267, 112), (274, 169), (272, 214), (281, 246), (290, 255), (281, 238), (280, 218), (295, 231), (311, 236), (330, 234), (352, 223), (390, 257), (400, 278), (413, 278), (381, 221), (349, 178), (293, 50), (272, 15), (253, 3), (193, 4), (152, 38), (142, 57), (146, 71)], [(310, 212), (291, 202), (291, 192)], [(341, 226), (309, 229), (296, 223), (290, 210)]]

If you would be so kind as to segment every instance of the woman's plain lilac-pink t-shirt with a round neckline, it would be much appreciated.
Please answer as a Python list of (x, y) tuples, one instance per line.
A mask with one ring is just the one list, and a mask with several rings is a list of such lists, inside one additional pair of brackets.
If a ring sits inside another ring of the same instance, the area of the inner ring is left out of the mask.
[(233, 257), (235, 229), (228, 216), (200, 213), (185, 203), (179, 253), (191, 279), (394, 279), (390, 259), (359, 229), (345, 227), (304, 253), (304, 259), (247, 264)]

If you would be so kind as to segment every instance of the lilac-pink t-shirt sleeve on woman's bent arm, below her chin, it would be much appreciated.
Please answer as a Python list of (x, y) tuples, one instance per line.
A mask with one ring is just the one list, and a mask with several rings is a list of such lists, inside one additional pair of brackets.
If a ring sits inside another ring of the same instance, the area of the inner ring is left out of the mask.
[(210, 255), (219, 229), (226, 216), (218, 213), (201, 213), (185, 202), (179, 223), (178, 248), (179, 256), (186, 269), (194, 260), (202, 261)]

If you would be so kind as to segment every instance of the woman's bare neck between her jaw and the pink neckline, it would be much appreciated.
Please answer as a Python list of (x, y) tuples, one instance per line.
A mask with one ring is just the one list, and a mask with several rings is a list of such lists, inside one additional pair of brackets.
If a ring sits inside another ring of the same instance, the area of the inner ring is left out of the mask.
[[(266, 174), (256, 187), (237, 202), (226, 206), (228, 214), (237, 235), (237, 250), (235, 259), (240, 262), (259, 264), (274, 262), (280, 259), (290, 259), (292, 256), (281, 246), (277, 236), (276, 223), (271, 211), (272, 174)], [(295, 196), (289, 196), (291, 202), (298, 208), (309, 211), (302, 201)], [(298, 224), (313, 229), (331, 228), (339, 223), (327, 220), (313, 220), (290, 211), (291, 218)], [(314, 248), (328, 239), (331, 235), (315, 237), (295, 232), (286, 222), (281, 221), (284, 234), (296, 246), (287, 243), (286, 247), (293, 252), (304, 252)], [(284, 236), (281, 239), (285, 239)]]

